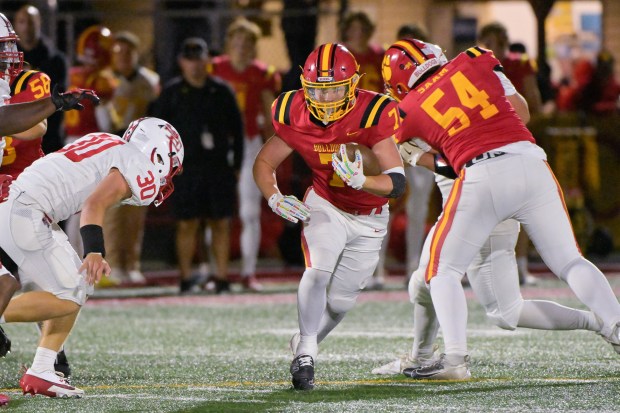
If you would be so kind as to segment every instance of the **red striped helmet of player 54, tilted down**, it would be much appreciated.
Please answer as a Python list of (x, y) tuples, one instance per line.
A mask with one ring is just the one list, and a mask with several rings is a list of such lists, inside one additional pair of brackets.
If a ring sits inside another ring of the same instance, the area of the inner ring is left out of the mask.
[(381, 72), (385, 91), (401, 101), (427, 72), (448, 63), (439, 46), (416, 39), (401, 39), (385, 52)]

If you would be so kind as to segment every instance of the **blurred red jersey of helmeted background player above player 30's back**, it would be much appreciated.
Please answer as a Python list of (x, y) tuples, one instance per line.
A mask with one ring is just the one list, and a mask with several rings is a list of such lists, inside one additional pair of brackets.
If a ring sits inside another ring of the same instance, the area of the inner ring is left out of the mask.
[[(109, 70), (93, 70), (84, 66), (69, 70), (69, 89), (93, 89), (103, 102), (112, 98), (117, 81)], [(67, 137), (82, 137), (100, 132), (95, 118), (95, 105), (89, 100), (82, 102), (84, 109), (65, 112), (65, 132)]]

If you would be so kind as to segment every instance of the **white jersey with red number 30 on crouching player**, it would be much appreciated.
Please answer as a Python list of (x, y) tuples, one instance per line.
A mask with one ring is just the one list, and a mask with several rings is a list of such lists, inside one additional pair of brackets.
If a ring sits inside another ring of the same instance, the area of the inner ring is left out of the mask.
[(131, 189), (126, 205), (149, 205), (159, 193), (155, 165), (134, 145), (109, 133), (91, 133), (38, 159), (13, 182), (58, 222), (81, 211), (86, 198), (116, 168)]

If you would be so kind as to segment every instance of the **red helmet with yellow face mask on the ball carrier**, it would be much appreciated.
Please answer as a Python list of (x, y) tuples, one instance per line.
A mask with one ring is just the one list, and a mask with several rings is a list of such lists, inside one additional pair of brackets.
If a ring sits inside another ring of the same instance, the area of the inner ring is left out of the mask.
[(337, 43), (317, 47), (301, 75), (308, 110), (323, 123), (342, 118), (355, 105), (359, 79), (359, 65), (346, 47)]

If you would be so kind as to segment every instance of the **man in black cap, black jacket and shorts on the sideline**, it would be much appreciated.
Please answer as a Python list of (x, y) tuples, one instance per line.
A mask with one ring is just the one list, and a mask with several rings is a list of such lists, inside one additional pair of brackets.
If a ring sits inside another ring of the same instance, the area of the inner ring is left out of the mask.
[(200, 281), (192, 278), (192, 260), (203, 225), (212, 232), (215, 292), (227, 292), (230, 219), (236, 211), (243, 161), (243, 118), (231, 87), (208, 75), (209, 55), (203, 39), (185, 39), (177, 62), (181, 76), (164, 86), (149, 112), (173, 124), (186, 147), (184, 172), (171, 198), (180, 292), (191, 292)]

